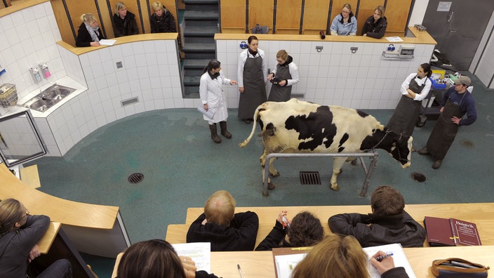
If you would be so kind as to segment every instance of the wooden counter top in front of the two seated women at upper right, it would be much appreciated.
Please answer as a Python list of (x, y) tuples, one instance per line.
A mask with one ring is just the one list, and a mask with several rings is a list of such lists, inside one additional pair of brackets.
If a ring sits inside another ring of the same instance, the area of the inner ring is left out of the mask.
[[(410, 32), (415, 37), (401, 37), (403, 41), (394, 42), (394, 44), (437, 44), (437, 42), (431, 37), (427, 31), (419, 31), (417, 28), (408, 27)], [(234, 40), (246, 40), (251, 34), (215, 34), (215, 39), (234, 39)], [(321, 39), (319, 35), (303, 35), (303, 34), (255, 34), (261, 41), (338, 41), (338, 42), (363, 42), (363, 43), (391, 43), (385, 37), (381, 39), (373, 39), (370, 37), (362, 36), (331, 36), (327, 35), (326, 39)]]

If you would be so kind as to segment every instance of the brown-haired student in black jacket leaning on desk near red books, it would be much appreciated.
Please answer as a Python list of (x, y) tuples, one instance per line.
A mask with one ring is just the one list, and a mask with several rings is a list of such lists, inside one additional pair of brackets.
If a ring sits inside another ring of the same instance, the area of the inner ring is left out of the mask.
[(363, 247), (400, 243), (422, 247), (425, 229), (404, 211), (405, 199), (389, 185), (376, 188), (370, 197), (372, 213), (342, 213), (328, 220), (332, 232), (354, 236)]

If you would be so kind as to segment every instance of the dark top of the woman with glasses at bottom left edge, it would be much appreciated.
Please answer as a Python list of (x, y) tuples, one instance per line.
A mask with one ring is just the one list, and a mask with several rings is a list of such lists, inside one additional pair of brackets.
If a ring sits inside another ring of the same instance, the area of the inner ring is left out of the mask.
[[(26, 277), (27, 258), (50, 225), (48, 216), (27, 216), (26, 224), (0, 237), (0, 277)], [(4, 251), (5, 250), (5, 251)]]

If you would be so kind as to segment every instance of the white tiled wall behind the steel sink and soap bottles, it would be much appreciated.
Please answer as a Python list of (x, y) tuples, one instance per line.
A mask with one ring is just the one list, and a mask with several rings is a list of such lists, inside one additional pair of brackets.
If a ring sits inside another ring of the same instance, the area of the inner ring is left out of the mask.
[[(56, 41), (60, 31), (50, 2), (22, 9), (0, 18), (0, 65), (6, 69), (0, 84), (15, 84), (19, 98), (48, 81), (65, 77), (65, 67)], [(30, 67), (48, 62), (51, 77), (35, 83)], [(4, 114), (0, 108), (0, 114)]]

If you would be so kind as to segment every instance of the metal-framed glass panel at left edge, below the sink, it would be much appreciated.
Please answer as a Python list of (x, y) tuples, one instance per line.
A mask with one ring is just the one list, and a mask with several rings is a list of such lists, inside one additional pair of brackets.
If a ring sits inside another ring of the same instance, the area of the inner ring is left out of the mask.
[(0, 118), (0, 156), (7, 167), (45, 154), (46, 147), (29, 110)]

